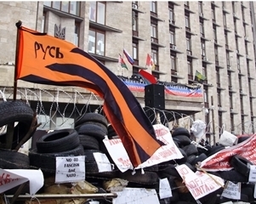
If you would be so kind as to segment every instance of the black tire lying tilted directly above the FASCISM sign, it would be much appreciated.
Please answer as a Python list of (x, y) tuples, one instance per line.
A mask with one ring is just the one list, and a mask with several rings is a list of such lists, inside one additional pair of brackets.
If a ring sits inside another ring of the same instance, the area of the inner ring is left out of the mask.
[(76, 130), (61, 129), (43, 135), (36, 144), (38, 153), (52, 153), (75, 149), (80, 141)]

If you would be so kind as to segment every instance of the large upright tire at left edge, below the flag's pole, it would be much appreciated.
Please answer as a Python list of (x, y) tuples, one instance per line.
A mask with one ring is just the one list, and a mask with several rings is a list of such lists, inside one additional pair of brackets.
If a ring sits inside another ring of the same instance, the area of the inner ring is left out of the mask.
[[(13, 144), (11, 147), (11, 149), (15, 149), (17, 144), (20, 143), (20, 140), (23, 139), (30, 130), (34, 111), (23, 101), (7, 101), (0, 103), (0, 116), (0, 128), (9, 123), (19, 122), (18, 125), (14, 127)], [(31, 133), (28, 139), (31, 138), (33, 133)], [(6, 143), (6, 134), (0, 136), (0, 142), (2, 144)]]

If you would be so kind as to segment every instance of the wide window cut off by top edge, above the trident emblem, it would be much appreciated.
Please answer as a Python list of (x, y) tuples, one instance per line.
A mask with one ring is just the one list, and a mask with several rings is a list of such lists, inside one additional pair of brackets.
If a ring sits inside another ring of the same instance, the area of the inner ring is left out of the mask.
[(43, 5), (61, 10), (65, 13), (80, 16), (81, 2), (43, 2)]

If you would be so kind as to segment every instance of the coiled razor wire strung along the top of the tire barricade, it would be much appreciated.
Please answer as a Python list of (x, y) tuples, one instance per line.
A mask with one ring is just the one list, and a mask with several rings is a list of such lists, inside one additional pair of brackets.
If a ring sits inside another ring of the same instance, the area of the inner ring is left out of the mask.
[[(13, 99), (14, 88), (2, 87), (0, 88), (0, 102)], [(97, 111), (104, 115), (103, 103), (104, 100), (100, 96), (94, 93), (84, 93), (77, 88), (17, 88), (17, 99), (24, 100), (27, 105), (31, 105), (31, 101), (36, 103), (35, 111), (37, 113), (37, 119), (39, 116), (43, 120), (41, 128), (47, 127), (51, 124), (54, 128), (61, 128), (69, 123), (69, 126), (73, 126), (75, 118), (82, 116), (86, 112)], [(47, 100), (45, 100), (47, 99)], [(46, 108), (48, 105), (48, 110)], [(62, 108), (60, 108), (60, 103)], [(63, 106), (64, 105), (64, 106)], [(94, 105), (94, 110), (91, 109), (91, 105)], [(97, 107), (98, 106), (98, 107)], [(172, 130), (174, 127), (191, 128), (194, 122), (193, 117), (179, 113), (176, 111), (159, 110), (156, 108), (145, 107), (145, 114), (151, 118), (152, 124), (157, 123), (158, 120), (165, 126)], [(54, 118), (60, 119), (61, 122), (57, 123)], [(233, 128), (227, 127), (226, 124), (213, 124), (212, 121), (208, 122), (207, 133), (223, 133), (224, 131), (235, 132), (236, 134), (250, 134), (254, 133), (256, 127), (255, 122), (244, 122), (236, 124)], [(214, 130), (214, 131), (213, 131)], [(215, 135), (216, 137), (216, 135)]]

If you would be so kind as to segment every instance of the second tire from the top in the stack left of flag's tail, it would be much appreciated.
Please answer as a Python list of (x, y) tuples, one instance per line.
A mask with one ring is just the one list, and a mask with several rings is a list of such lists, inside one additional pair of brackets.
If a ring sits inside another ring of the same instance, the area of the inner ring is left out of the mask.
[(107, 133), (101, 127), (93, 124), (81, 125), (79, 127), (76, 127), (76, 130), (79, 134), (94, 136), (96, 139), (101, 141), (105, 139), (105, 135), (107, 135)]

